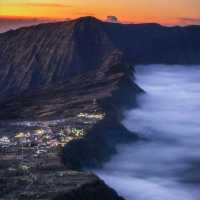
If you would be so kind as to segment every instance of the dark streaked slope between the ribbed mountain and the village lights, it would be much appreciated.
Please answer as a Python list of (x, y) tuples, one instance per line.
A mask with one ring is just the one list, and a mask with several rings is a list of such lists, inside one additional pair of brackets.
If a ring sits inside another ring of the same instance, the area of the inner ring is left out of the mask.
[(118, 64), (74, 76), (62, 84), (27, 90), (1, 102), (0, 120), (62, 119), (80, 112), (110, 112), (114, 107), (120, 111), (135, 105), (141, 91), (131, 79), (131, 67)]

